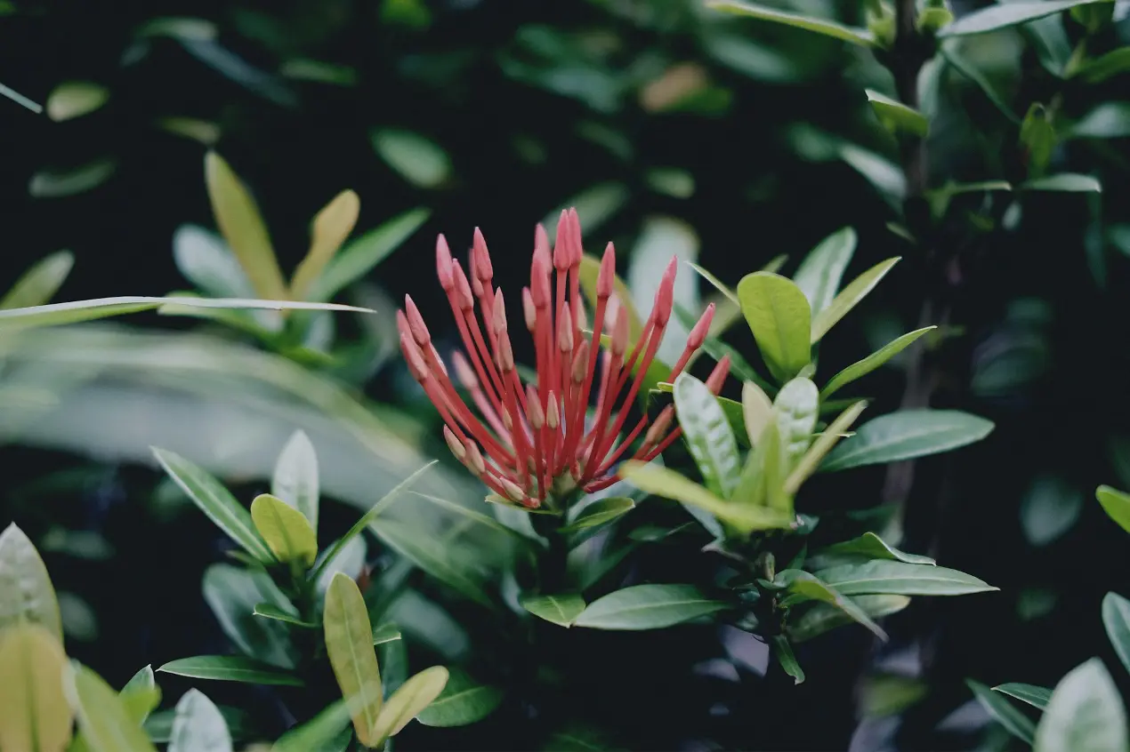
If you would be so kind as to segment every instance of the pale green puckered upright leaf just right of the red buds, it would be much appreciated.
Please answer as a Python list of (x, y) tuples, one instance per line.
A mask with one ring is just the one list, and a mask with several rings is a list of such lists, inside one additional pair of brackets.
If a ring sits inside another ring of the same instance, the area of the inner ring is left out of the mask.
[(738, 484), (741, 460), (733, 429), (705, 384), (690, 374), (675, 379), (675, 410), (690, 455), (711, 492), (729, 498)]

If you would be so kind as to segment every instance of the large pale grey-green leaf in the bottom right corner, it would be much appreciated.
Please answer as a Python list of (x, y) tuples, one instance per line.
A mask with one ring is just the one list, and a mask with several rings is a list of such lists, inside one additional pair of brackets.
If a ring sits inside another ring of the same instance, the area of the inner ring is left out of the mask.
[(1125, 707), (1098, 658), (1072, 668), (1052, 691), (1033, 752), (1125, 752)]

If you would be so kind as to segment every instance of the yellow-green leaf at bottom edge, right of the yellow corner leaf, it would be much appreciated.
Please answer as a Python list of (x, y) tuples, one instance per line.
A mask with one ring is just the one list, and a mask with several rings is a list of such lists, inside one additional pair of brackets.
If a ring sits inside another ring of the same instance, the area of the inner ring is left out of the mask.
[(72, 662), (62, 674), (82, 737), (92, 752), (156, 752), (141, 725), (127, 712), (118, 692), (98, 674), (78, 662)]

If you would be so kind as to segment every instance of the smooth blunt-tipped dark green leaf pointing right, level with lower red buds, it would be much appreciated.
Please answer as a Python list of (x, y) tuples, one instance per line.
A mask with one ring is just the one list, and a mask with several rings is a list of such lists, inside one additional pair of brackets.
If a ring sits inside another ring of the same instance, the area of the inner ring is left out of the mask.
[(993, 429), (984, 418), (957, 410), (902, 410), (860, 426), (822, 470), (833, 472), (922, 457), (980, 441)]

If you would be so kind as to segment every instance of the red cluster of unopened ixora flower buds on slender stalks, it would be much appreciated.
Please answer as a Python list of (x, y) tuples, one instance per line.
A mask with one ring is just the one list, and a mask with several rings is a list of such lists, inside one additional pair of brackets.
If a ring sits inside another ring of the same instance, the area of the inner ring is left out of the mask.
[[(452, 260), (443, 235), (436, 241), (440, 285), (447, 294), (467, 350), (467, 357), (457, 352), (453, 358), (455, 376), (481, 420), (455, 391), (410, 296), (405, 297), (405, 311), (397, 312), (400, 347), (412, 376), (446, 423), (444, 437), (452, 453), (496, 493), (529, 508), (541, 506), (553, 493), (567, 493), (577, 487), (592, 492), (616, 482), (614, 464), (647, 428), (644, 414), (623, 440), (617, 440), (671, 316), (677, 259), (668, 264), (643, 333), (628, 350), (628, 316), (614, 295), (616, 252), (609, 243), (597, 279), (593, 332), (586, 335), (579, 279), (582, 253), (575, 209), (562, 212), (553, 254), (546, 230), (538, 225), (530, 287), (522, 289), (522, 311), (525, 327), (533, 336), (538, 379), (537, 384), (523, 386), (514, 368), (503, 294), (492, 285), (494, 270), (483, 234), (476, 228), (469, 277)], [(475, 313), (476, 301), (481, 326)], [(702, 347), (713, 316), (711, 304), (690, 331), (669, 381), (675, 381)], [(611, 338), (609, 347), (601, 351), (606, 321)], [(602, 362), (599, 379), (598, 359)], [(707, 379), (715, 394), (728, 371), (729, 358), (724, 358)], [(594, 385), (596, 419), (586, 426)], [(618, 410), (614, 410), (616, 405)], [(669, 431), (673, 416), (671, 405), (660, 412), (632, 456), (634, 460), (654, 458), (679, 436), (678, 428)]]

